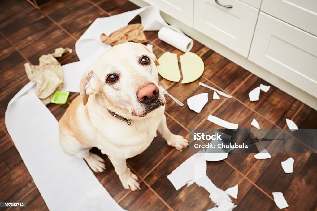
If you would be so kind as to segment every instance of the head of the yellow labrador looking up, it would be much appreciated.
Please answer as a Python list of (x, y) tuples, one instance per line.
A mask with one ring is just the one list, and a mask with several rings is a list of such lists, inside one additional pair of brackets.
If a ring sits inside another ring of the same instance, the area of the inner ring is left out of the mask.
[(84, 105), (90, 94), (102, 96), (115, 107), (143, 117), (165, 105), (159, 91), (159, 65), (146, 46), (133, 42), (108, 49), (85, 71), (80, 82)]

